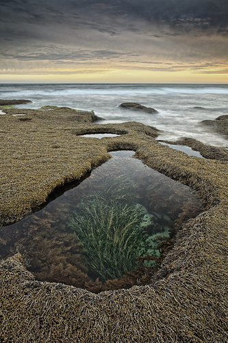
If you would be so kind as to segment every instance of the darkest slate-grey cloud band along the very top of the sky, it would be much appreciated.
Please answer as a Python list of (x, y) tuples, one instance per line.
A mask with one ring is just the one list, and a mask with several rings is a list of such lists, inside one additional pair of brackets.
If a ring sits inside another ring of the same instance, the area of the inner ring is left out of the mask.
[(48, 25), (72, 19), (75, 25), (77, 21), (88, 25), (97, 22), (97, 29), (101, 29), (99, 16), (105, 15), (125, 16), (126, 21), (162, 23), (179, 31), (200, 27), (222, 33), (227, 32), (228, 27), (227, 0), (1, 0), (0, 9), (1, 21), (22, 25)]

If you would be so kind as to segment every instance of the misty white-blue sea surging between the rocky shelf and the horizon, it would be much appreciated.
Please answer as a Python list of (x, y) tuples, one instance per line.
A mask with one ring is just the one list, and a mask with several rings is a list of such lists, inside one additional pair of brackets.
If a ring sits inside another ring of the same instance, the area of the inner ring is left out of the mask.
[[(228, 84), (0, 84), (1, 99), (29, 99), (19, 108), (45, 105), (94, 110), (105, 121), (140, 121), (163, 130), (159, 139), (191, 137), (205, 144), (227, 147), (225, 137), (197, 126), (199, 121), (228, 113)], [(138, 102), (159, 113), (125, 110), (123, 102)]]

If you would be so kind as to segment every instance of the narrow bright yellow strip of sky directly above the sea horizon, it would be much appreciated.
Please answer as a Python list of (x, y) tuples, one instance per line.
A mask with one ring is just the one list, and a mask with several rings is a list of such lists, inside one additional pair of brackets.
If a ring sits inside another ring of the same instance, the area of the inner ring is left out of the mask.
[(73, 82), (73, 83), (227, 83), (228, 69), (205, 70), (147, 70), (147, 69), (41, 69), (36, 71), (0, 71), (0, 82)]

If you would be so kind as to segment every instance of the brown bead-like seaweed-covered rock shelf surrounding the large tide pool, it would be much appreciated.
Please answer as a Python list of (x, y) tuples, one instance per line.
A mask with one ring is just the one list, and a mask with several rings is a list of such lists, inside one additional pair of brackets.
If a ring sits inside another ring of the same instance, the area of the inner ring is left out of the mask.
[[(25, 217), (56, 187), (131, 149), (149, 167), (197, 191), (205, 211), (182, 225), (150, 285), (92, 294), (36, 281), (20, 254), (0, 263), (1, 342), (227, 342), (228, 171), (224, 159), (187, 156), (141, 123), (100, 125), (66, 108), (5, 110), (1, 224)], [(25, 114), (20, 121), (12, 114)], [(110, 132), (103, 139), (80, 134)]]

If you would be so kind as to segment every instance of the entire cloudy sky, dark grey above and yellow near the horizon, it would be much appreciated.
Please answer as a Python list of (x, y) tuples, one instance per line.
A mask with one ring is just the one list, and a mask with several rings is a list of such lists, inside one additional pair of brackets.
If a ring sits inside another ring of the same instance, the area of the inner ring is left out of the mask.
[(0, 0), (0, 83), (228, 83), (228, 0)]

